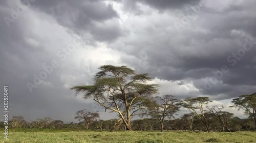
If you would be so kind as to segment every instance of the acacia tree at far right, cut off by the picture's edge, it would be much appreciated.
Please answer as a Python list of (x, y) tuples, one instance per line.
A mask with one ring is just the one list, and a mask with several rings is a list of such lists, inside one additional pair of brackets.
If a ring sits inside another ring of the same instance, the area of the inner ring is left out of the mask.
[(233, 106), (237, 107), (238, 110), (243, 109), (245, 115), (249, 115), (254, 120), (256, 129), (256, 93), (251, 95), (241, 95), (238, 98), (232, 100)]

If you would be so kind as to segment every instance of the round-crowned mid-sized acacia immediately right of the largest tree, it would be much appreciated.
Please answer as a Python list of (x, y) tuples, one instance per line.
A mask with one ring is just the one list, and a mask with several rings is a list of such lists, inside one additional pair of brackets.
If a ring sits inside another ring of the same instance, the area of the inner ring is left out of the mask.
[(173, 95), (157, 96), (151, 103), (147, 103), (149, 115), (160, 122), (161, 132), (164, 131), (164, 122), (169, 122), (173, 115), (179, 111), (180, 107), (181, 101), (175, 99)]

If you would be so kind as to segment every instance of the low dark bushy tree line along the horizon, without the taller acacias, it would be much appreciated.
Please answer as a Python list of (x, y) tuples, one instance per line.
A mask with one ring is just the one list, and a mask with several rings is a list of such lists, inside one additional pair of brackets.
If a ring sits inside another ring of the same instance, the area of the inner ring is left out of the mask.
[[(254, 121), (252, 118), (240, 119), (233, 117), (233, 114), (224, 117), (224, 124), (230, 131), (245, 131), (255, 130)], [(228, 131), (217, 118), (211, 115), (209, 112), (205, 113), (205, 120), (210, 131)], [(119, 123), (118, 123), (119, 122)], [(124, 130), (125, 126), (118, 121), (118, 119), (111, 120), (94, 120), (92, 124), (87, 128), (90, 130)], [(164, 121), (165, 130), (183, 130), (183, 131), (206, 131), (205, 125), (192, 114), (185, 114), (181, 118)], [(40, 129), (74, 129), (84, 130), (86, 123), (66, 123), (60, 120), (51, 120), (51, 118), (44, 118), (32, 122), (26, 122), (22, 116), (13, 117), (10, 121), (11, 128), (40, 128)], [(152, 131), (161, 130), (161, 124), (158, 119), (144, 118), (133, 120), (131, 122), (133, 130), (135, 131)], [(0, 128), (4, 128), (4, 122), (0, 122)]]

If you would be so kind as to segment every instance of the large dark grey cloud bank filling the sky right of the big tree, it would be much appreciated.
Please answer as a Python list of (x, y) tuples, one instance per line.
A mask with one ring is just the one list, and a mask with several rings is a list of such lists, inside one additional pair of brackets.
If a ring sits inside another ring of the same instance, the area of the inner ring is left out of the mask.
[[(180, 32), (172, 27), (174, 30), (171, 28), (164, 28), (162, 31), (153, 30), (151, 34), (140, 37), (142, 35), (140, 32), (143, 30), (134, 31), (137, 38), (130, 37), (131, 41), (127, 38), (123, 40), (123, 45), (129, 45), (131, 48), (120, 45), (113, 47), (134, 55), (134, 62), (131, 62), (129, 56), (122, 58), (123, 62), (130, 63), (131, 66), (138, 65), (140, 59), (140, 53), (134, 50), (135, 47), (143, 47), (148, 65), (140, 68), (141, 72), (150, 72), (154, 77), (172, 81), (202, 80), (202, 84), (196, 84), (202, 94), (228, 94), (218, 99), (249, 94), (254, 92), (256, 83), (253, 60), (256, 54), (254, 48), (256, 30), (255, 25), (252, 24), (255, 23), (256, 16), (252, 14), (255, 13), (252, 3), (248, 1), (240, 5), (232, 4), (221, 11), (206, 5), (198, 13), (197, 19), (191, 20), (190, 24), (185, 25)], [(186, 10), (184, 13), (186, 14)], [(171, 12), (169, 14), (172, 15)], [(172, 16), (169, 18), (169, 21), (172, 21)], [(147, 28), (150, 24), (157, 25), (156, 21), (148, 22), (145, 25), (137, 24), (141, 28)], [(162, 26), (170, 27), (165, 24)], [(146, 42), (143, 41), (144, 39)], [(246, 43), (246, 47), (251, 46), (249, 51), (243, 49)], [(242, 56), (236, 59), (233, 53)], [(229, 56), (231, 57), (228, 58)], [(211, 90), (205, 90), (204, 79), (215, 76), (213, 72), (220, 71), (223, 65), (229, 69), (228, 73), (223, 73), (219, 80), (221, 82), (214, 84)], [(237, 89), (238, 86), (244, 86), (247, 91)]]

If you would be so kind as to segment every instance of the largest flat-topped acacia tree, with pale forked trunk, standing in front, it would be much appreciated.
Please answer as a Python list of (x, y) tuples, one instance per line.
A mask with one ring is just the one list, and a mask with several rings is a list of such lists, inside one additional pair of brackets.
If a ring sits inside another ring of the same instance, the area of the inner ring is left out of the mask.
[(100, 66), (94, 75), (93, 85), (71, 88), (76, 95), (83, 93), (84, 99), (92, 98), (106, 109), (117, 112), (126, 130), (131, 130), (131, 117), (140, 115), (141, 103), (158, 92), (158, 84), (149, 84), (148, 74), (138, 74), (126, 66)]

